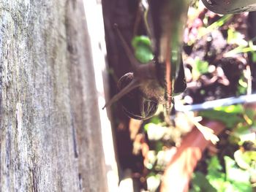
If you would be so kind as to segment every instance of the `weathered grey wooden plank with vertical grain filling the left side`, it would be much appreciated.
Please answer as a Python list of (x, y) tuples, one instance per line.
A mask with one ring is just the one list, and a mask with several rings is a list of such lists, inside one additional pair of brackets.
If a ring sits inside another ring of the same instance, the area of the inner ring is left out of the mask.
[(0, 1), (1, 191), (107, 191), (89, 47), (81, 0)]

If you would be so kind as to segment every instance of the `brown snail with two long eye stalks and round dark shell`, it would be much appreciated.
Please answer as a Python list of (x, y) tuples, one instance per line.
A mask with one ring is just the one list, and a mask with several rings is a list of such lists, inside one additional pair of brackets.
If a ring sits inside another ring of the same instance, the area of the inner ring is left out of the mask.
[(113, 96), (113, 99), (108, 101), (105, 107), (120, 100), (124, 112), (130, 118), (146, 120), (157, 112), (159, 104), (165, 103), (165, 88), (159, 85), (157, 80), (156, 62), (149, 61), (148, 64), (140, 64), (118, 30), (118, 26), (115, 25), (114, 27), (127, 53), (132, 66), (132, 72), (124, 74), (118, 80), (117, 87), (119, 93)]

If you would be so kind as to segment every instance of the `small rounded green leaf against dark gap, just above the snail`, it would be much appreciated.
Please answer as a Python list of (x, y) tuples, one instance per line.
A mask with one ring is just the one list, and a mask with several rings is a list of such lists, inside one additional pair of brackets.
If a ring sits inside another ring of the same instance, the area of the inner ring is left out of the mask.
[(151, 41), (146, 36), (136, 36), (132, 39), (132, 47), (135, 50), (135, 58), (142, 64), (146, 64), (154, 58), (151, 50)]

